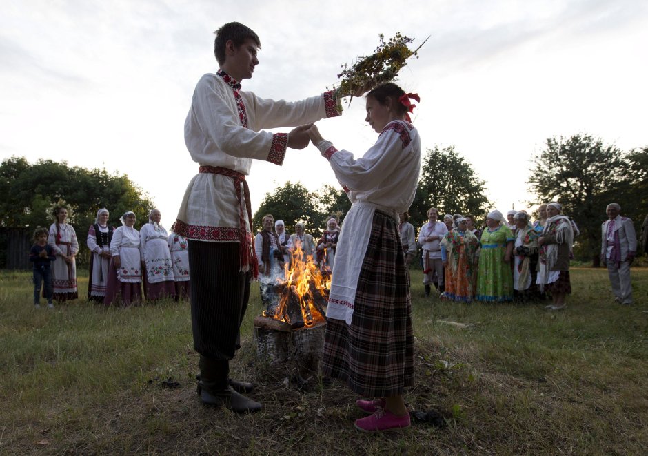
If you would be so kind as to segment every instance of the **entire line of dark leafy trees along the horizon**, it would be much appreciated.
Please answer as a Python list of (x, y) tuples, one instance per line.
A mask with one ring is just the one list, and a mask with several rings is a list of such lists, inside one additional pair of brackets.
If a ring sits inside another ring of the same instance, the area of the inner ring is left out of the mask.
[[(648, 147), (623, 152), (600, 138), (575, 134), (547, 139), (531, 161), (527, 184), (535, 200), (527, 203), (531, 207), (553, 200), (563, 205), (563, 212), (573, 217), (580, 229), (574, 245), (577, 259), (591, 260), (598, 266), (600, 225), (609, 203), (619, 203), (622, 215), (630, 217), (640, 229), (648, 211)], [(506, 174), (507, 170), (502, 172)], [(71, 222), (79, 228), (80, 237), (101, 207), (108, 207), (111, 220), (126, 210), (145, 220), (154, 207), (152, 199), (126, 175), (52, 160), (30, 164), (19, 157), (7, 158), (0, 165), (0, 196), (0, 228), (49, 227), (52, 217), (48, 211), (64, 199), (72, 207)], [(454, 146), (426, 150), (414, 203), (409, 208), (412, 225), (421, 227), (432, 206), (442, 214), (472, 214), (478, 222), (484, 221), (492, 207), (485, 182)], [(273, 214), (275, 219), (284, 220), (288, 232), (294, 232), (295, 223), (302, 221), (310, 234), (319, 236), (328, 218), (343, 220), (350, 207), (341, 188), (325, 185), (309, 191), (301, 183), (287, 182), (265, 194), (253, 226), (261, 229), (261, 218)], [(85, 246), (85, 242), (80, 244)], [(0, 267), (5, 245), (0, 239)], [(83, 264), (83, 251), (80, 262)]]

